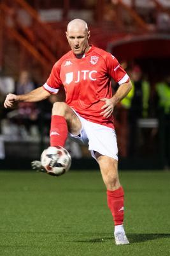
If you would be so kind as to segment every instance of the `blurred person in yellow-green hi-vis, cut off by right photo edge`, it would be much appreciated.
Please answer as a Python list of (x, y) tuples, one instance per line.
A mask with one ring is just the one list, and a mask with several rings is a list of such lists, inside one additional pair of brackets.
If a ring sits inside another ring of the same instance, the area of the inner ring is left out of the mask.
[(165, 81), (157, 83), (156, 93), (158, 97), (159, 113), (159, 134), (160, 150), (165, 164), (165, 168), (170, 168), (170, 75), (166, 76)]

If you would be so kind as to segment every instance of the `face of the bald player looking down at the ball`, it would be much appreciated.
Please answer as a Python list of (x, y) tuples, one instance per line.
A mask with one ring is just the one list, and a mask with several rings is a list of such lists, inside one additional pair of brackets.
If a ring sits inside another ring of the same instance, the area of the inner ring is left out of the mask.
[(69, 46), (71, 47), (71, 50), (74, 52), (74, 54), (81, 55), (87, 51), (90, 31), (88, 32), (87, 29), (81, 28), (70, 28), (66, 32), (66, 36), (69, 42)]

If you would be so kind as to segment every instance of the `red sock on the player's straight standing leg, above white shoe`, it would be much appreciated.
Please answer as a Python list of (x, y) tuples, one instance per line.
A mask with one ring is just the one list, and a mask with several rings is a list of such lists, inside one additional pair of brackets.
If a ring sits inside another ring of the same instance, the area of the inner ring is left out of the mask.
[(124, 221), (124, 189), (122, 187), (111, 191), (107, 190), (108, 195), (108, 207), (115, 225), (122, 225)]

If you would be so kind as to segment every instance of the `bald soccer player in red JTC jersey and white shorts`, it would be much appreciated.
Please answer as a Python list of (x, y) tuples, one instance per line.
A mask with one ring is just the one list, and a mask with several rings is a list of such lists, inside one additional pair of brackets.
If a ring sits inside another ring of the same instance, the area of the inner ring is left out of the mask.
[[(4, 107), (46, 99), (64, 85), (66, 102), (55, 102), (52, 108), (50, 145), (64, 147), (68, 133), (74, 141), (89, 145), (106, 185), (108, 207), (115, 222), (115, 243), (129, 244), (123, 226), (124, 189), (118, 179), (113, 109), (131, 90), (131, 81), (113, 55), (89, 45), (90, 31), (84, 20), (71, 20), (66, 37), (71, 51), (53, 65), (46, 83), (25, 95), (8, 94)], [(115, 95), (111, 77), (119, 84)]]

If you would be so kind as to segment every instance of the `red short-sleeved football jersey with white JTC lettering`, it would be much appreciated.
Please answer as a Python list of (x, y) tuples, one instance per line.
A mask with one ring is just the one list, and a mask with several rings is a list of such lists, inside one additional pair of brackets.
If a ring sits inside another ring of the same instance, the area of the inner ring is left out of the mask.
[(63, 84), (66, 103), (80, 116), (113, 128), (113, 116), (105, 118), (100, 115), (105, 104), (101, 99), (112, 97), (111, 77), (118, 84), (129, 81), (129, 76), (113, 55), (92, 45), (81, 59), (76, 58), (72, 51), (62, 56), (53, 65), (43, 87), (50, 93), (57, 93)]

